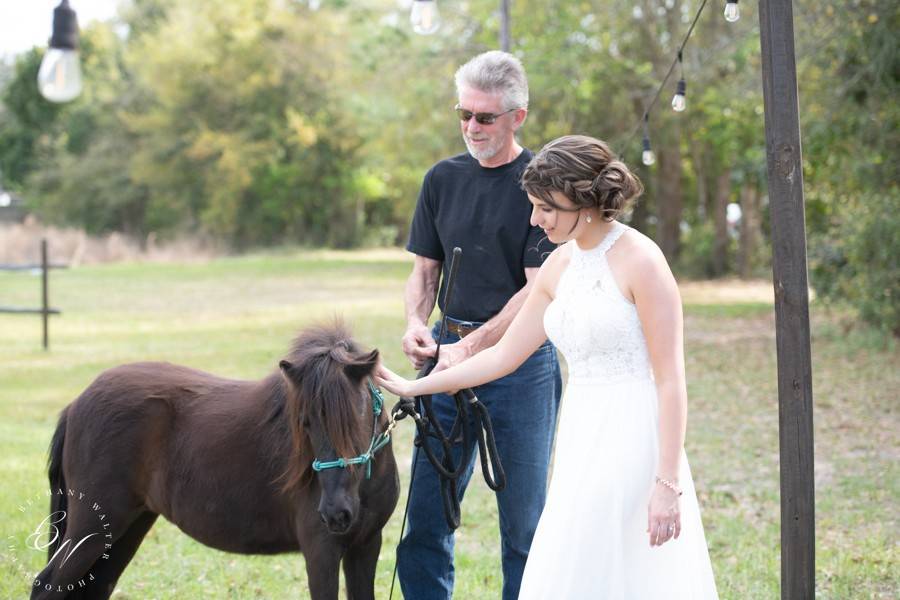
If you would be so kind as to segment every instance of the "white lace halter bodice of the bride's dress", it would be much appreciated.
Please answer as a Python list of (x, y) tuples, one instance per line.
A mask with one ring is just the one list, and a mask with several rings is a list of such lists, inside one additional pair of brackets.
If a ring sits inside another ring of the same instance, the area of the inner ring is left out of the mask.
[(590, 250), (568, 242), (571, 258), (544, 313), (544, 330), (562, 351), (570, 382), (652, 378), (637, 309), (622, 295), (606, 260), (606, 252), (627, 230), (613, 221), (603, 241)]

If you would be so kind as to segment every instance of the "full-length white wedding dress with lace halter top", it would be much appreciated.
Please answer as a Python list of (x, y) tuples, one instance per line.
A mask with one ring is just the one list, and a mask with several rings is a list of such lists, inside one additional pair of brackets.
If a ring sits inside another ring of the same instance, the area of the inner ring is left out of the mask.
[(651, 547), (646, 531), (659, 449), (656, 386), (637, 310), (606, 261), (627, 230), (613, 222), (591, 250), (568, 243), (571, 260), (544, 314), (569, 378), (520, 600), (717, 598), (684, 454), (681, 535)]

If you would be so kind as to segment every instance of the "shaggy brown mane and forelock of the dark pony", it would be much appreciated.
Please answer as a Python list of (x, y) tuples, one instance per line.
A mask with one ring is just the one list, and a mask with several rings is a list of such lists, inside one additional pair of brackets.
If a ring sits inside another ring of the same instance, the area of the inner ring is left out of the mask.
[(292, 456), (284, 473), (285, 488), (312, 477), (315, 450), (304, 422), (320, 419), (337, 456), (350, 458), (365, 450), (371, 412), (360, 412), (363, 380), (378, 361), (378, 351), (364, 352), (342, 323), (305, 329), (281, 361), (284, 407), (291, 429)]

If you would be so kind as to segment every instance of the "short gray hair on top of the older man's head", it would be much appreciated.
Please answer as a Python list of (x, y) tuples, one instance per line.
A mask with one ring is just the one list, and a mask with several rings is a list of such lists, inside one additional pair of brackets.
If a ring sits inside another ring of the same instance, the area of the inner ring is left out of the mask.
[(528, 108), (528, 79), (522, 62), (500, 50), (479, 54), (456, 71), (456, 93), (472, 88), (503, 95), (505, 109)]

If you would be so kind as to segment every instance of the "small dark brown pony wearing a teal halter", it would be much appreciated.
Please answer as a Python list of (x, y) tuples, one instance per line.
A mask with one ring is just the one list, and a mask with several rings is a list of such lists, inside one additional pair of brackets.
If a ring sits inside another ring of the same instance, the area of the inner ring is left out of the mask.
[(377, 361), (337, 325), (302, 333), (261, 381), (168, 363), (101, 374), (53, 435), (50, 560), (31, 597), (108, 598), (163, 515), (227, 552), (302, 552), (314, 600), (337, 598), (342, 562), (348, 597), (374, 598), (399, 493), (391, 447), (369, 465), (312, 463), (363, 454), (384, 430)]

